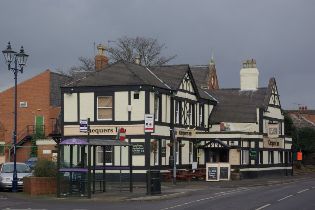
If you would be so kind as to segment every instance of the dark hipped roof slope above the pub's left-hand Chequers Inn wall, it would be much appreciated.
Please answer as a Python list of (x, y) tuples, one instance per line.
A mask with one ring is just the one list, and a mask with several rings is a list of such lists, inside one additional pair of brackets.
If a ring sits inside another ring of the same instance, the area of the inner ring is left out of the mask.
[(145, 67), (124, 60), (95, 71), (92, 75), (73, 81), (66, 87), (151, 85), (169, 89)]

